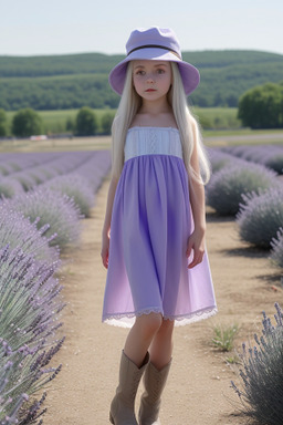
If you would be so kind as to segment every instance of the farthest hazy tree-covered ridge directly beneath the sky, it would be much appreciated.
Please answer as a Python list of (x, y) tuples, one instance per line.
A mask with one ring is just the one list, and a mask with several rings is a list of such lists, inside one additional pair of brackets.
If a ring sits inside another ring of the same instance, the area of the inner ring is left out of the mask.
[[(185, 61), (192, 63), (201, 73), (207, 69), (253, 65), (262, 69), (264, 64), (274, 68), (282, 65), (282, 54), (242, 51), (212, 50), (182, 52)], [(80, 53), (44, 56), (0, 56), (0, 77), (40, 77), (54, 75), (105, 74), (124, 59), (123, 54)]]

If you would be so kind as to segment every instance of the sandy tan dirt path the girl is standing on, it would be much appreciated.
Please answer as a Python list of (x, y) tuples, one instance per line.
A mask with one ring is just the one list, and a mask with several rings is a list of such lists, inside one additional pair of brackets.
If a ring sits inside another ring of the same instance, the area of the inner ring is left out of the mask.
[[(63, 311), (66, 342), (54, 362), (62, 363), (63, 370), (48, 390), (46, 425), (109, 423), (108, 406), (128, 331), (101, 323), (106, 271), (99, 251), (107, 187), (108, 180), (97, 194), (92, 217), (84, 221), (80, 249), (62, 271), (69, 303)], [(208, 211), (207, 245), (219, 313), (176, 329), (174, 364), (160, 413), (163, 425), (245, 423), (231, 416), (234, 407), (229, 398), (237, 402), (237, 397), (230, 380), (238, 382), (238, 377), (226, 355), (211, 348), (211, 328), (217, 323), (239, 323), (240, 346), (258, 326), (261, 329), (261, 311), (273, 314), (274, 302), (282, 304), (277, 270), (271, 268), (265, 255), (239, 240), (233, 220), (219, 219)], [(274, 284), (277, 289), (272, 289)]]

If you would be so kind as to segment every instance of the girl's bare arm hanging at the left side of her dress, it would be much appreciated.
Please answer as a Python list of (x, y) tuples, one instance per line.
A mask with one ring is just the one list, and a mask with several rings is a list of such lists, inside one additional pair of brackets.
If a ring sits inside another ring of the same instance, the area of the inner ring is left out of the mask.
[(103, 266), (106, 269), (108, 268), (108, 257), (109, 257), (109, 232), (111, 232), (112, 209), (113, 209), (113, 203), (114, 203), (117, 183), (118, 183), (117, 178), (112, 177), (109, 188), (108, 188), (107, 206), (106, 206), (104, 226), (103, 226), (103, 230), (102, 230), (102, 252), (101, 252), (101, 256), (102, 256)]

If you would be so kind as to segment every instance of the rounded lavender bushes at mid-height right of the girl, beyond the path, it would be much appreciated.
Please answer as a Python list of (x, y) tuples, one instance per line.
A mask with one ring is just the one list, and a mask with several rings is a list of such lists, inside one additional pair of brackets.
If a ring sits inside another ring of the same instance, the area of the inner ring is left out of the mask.
[[(241, 238), (271, 249), (272, 261), (283, 267), (283, 180), (266, 166), (272, 158), (276, 167), (280, 163), (283, 167), (283, 147), (213, 148), (209, 155), (212, 178), (207, 186), (207, 204), (220, 215), (235, 216)], [(258, 158), (258, 164), (251, 158)]]

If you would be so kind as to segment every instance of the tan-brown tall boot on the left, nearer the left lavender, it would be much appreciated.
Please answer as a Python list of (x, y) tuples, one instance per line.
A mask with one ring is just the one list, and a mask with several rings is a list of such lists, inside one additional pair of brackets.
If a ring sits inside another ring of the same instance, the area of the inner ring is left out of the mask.
[(137, 367), (123, 351), (119, 365), (119, 384), (111, 404), (109, 421), (112, 424), (138, 425), (135, 416), (135, 398), (148, 360), (149, 354), (147, 353), (143, 365)]

